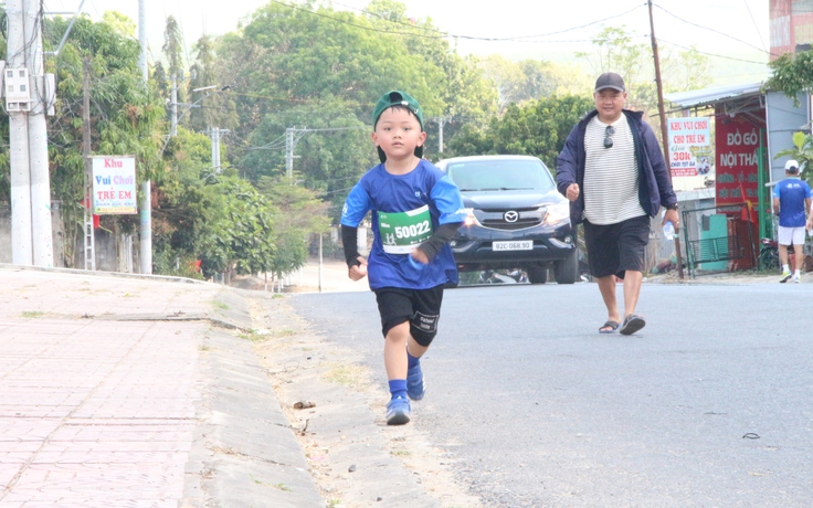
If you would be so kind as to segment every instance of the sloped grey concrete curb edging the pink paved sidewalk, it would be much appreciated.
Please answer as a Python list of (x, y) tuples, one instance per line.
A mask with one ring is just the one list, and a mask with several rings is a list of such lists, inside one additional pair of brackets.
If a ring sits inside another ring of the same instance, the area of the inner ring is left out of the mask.
[(179, 506), (325, 506), (251, 342), (213, 328), (205, 347), (212, 382), (197, 404)]

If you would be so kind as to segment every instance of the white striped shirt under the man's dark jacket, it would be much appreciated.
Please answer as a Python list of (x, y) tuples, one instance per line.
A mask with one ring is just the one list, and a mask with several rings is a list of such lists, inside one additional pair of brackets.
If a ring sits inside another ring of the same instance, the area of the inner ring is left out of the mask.
[(584, 219), (591, 224), (617, 224), (646, 215), (638, 200), (638, 166), (626, 116), (612, 126), (611, 148), (604, 148), (608, 124), (598, 116), (584, 131)]

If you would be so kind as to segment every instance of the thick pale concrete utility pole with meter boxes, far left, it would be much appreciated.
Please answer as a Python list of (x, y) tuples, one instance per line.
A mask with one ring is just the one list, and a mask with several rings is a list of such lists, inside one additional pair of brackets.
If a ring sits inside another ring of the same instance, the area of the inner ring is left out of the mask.
[(12, 263), (50, 267), (53, 232), (42, 12), (33, 0), (10, 0), (6, 13)]

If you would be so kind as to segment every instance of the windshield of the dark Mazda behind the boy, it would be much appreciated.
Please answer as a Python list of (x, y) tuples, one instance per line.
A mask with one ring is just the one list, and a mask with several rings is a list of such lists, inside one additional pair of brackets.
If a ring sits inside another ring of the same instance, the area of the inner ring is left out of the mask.
[(555, 189), (548, 168), (539, 160), (472, 160), (452, 162), (448, 178), (461, 192), (495, 190), (532, 190), (548, 192)]

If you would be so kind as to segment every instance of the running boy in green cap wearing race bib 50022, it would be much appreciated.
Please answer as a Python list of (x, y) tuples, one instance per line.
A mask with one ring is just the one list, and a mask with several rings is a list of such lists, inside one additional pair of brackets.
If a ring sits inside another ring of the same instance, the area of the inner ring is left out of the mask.
[[(410, 421), (409, 399), (423, 399), (420, 358), (437, 334), (443, 286), (457, 282), (448, 241), (465, 219), (461, 193), (423, 160), (423, 113), (403, 92), (388, 92), (372, 113), (372, 142), (381, 163), (352, 188), (341, 213), (349, 276), (369, 274), (384, 336), (391, 400), (387, 424)], [(359, 255), (358, 225), (372, 212), (369, 260)], [(409, 399), (408, 399), (409, 398)]]

